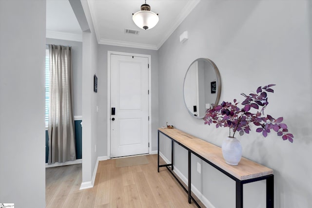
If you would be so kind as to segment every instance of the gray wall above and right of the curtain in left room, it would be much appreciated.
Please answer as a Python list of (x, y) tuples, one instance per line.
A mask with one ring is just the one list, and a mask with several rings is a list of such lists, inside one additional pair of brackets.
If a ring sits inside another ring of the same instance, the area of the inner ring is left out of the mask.
[(46, 38), (46, 44), (65, 45), (72, 47), (74, 115), (81, 116), (82, 105), (82, 42)]

